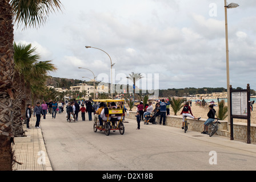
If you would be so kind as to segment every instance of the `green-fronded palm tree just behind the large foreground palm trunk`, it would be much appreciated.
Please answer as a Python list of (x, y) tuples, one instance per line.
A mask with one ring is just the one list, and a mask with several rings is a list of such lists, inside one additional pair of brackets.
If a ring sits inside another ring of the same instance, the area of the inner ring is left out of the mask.
[[(21, 111), (25, 111), (26, 102), (30, 101), (30, 98), (33, 98), (33, 101), (37, 100), (37, 96), (42, 97), (45, 92), (45, 80), (47, 78), (47, 72), (55, 71), (57, 68), (51, 61), (39, 61), (40, 55), (36, 54), (36, 48), (32, 48), (31, 44), (25, 45), (22, 43), (14, 43), (14, 63), (15, 70), (23, 78), (22, 80), (14, 79), (15, 82), (21, 82), (24, 86), (17, 86), (16, 90), (18, 91), (18, 104), (19, 108), (16, 110), (19, 111), (15, 121), (17, 121), (17, 127), (14, 127), (15, 137), (18, 135), (23, 135), (23, 129), (21, 126)], [(26, 87), (25, 85), (29, 86)], [(29, 93), (29, 94), (26, 94)], [(51, 94), (53, 96), (53, 94)], [(24, 102), (22, 102), (24, 100)], [(22, 105), (21, 105), (22, 103)], [(34, 102), (32, 102), (34, 103)]]

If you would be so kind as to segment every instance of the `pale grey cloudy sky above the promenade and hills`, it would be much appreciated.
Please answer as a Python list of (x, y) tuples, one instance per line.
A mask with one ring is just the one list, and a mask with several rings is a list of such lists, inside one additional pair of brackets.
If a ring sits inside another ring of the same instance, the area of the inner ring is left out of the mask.
[[(110, 82), (107, 52), (116, 84), (135, 72), (160, 89), (226, 88), (224, 0), (61, 2), (62, 12), (51, 14), (43, 26), (14, 27), (16, 43), (31, 43), (42, 60), (53, 60), (58, 71), (51, 76), (93, 78), (78, 69), (83, 67), (98, 81)], [(256, 2), (234, 3), (239, 7), (227, 10), (230, 84), (246, 88), (249, 83), (256, 90)]]

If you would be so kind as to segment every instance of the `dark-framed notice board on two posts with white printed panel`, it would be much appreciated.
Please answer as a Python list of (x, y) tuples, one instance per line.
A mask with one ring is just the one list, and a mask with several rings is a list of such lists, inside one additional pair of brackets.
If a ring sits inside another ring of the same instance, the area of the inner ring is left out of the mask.
[(234, 140), (233, 118), (247, 119), (247, 143), (251, 143), (250, 84), (242, 90), (233, 90), (230, 85), (230, 140)]

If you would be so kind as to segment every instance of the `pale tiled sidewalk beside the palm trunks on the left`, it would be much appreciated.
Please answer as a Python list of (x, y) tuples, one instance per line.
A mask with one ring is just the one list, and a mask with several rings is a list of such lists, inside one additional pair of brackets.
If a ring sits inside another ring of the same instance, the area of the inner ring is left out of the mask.
[[(48, 118), (49, 118), (49, 114)], [(41, 117), (41, 122), (43, 117)], [(43, 141), (42, 130), (35, 128), (36, 118), (30, 119), (31, 129), (26, 129), (23, 125), (23, 130), (27, 131), (27, 137), (14, 138), (14, 156), (17, 162), (23, 163), (19, 165), (15, 163), (13, 171), (53, 171), (50, 160), (48, 158), (45, 142)]]

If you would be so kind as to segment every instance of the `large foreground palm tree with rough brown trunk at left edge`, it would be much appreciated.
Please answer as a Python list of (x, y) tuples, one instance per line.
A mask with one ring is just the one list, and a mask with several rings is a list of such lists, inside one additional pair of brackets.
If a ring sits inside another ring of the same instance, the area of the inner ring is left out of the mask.
[(0, 171), (11, 171), (15, 162), (11, 149), (13, 100), (17, 93), (13, 87), (13, 18), (18, 25), (24, 23), (25, 28), (36, 27), (45, 23), (55, 8), (61, 9), (59, 0), (0, 0)]

